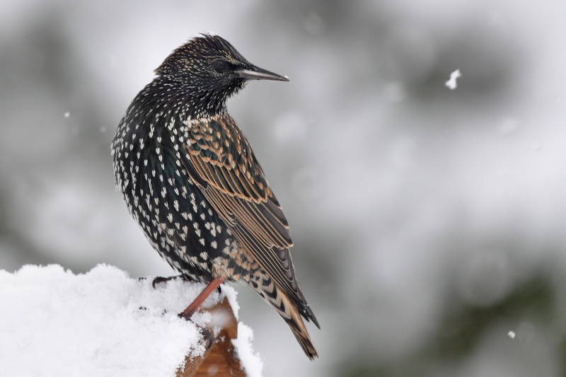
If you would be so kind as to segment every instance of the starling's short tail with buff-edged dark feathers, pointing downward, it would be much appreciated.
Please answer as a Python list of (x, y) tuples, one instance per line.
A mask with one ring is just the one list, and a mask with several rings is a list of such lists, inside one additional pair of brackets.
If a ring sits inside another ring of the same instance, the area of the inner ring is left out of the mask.
[(287, 325), (291, 328), (297, 342), (301, 344), (308, 359), (313, 360), (318, 357), (311, 336), (308, 335), (303, 318), (301, 318), (301, 313), (303, 313), (303, 316), (307, 320), (313, 320), (313, 323), (315, 323), (317, 327), (319, 327), (318, 322), (302, 295), (302, 305), (301, 308), (299, 308), (299, 306), (297, 306), (284, 291), (279, 289), (269, 277), (262, 279), (261, 283), (262, 284), (258, 284), (258, 286), (255, 286), (255, 284), (250, 284), (250, 286), (252, 286), (252, 288), (281, 315), (285, 322), (287, 322)]

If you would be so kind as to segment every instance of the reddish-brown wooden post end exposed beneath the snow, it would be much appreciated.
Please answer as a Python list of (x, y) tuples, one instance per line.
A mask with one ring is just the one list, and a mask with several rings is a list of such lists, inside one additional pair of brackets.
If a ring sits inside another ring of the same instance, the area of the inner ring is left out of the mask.
[(212, 347), (202, 356), (185, 357), (185, 365), (178, 369), (176, 377), (246, 377), (231, 342), (238, 337), (238, 320), (228, 300), (224, 298), (212, 308), (202, 308), (201, 311), (209, 312), (212, 316), (212, 320), (205, 326), (206, 330), (211, 334), (214, 333), (214, 327), (220, 330), (213, 338)]

